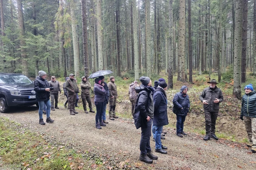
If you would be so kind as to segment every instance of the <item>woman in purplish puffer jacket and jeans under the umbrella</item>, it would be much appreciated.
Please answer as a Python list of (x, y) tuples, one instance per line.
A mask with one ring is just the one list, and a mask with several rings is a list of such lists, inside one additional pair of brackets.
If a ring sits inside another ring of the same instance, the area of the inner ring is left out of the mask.
[(101, 129), (101, 126), (106, 126), (104, 122), (102, 122), (102, 113), (104, 108), (104, 101), (105, 101), (105, 95), (106, 91), (104, 89), (104, 82), (102, 82), (102, 79), (96, 78), (94, 84), (94, 104), (96, 106), (96, 128)]

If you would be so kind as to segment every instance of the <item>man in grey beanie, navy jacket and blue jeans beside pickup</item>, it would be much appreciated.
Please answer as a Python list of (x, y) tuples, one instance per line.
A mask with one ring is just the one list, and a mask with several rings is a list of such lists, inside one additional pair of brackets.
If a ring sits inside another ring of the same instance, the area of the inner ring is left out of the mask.
[(46, 108), (46, 122), (52, 123), (54, 120), (50, 118), (50, 111), (51, 111), (51, 102), (50, 102), (50, 87), (48, 81), (46, 80), (47, 74), (44, 71), (38, 72), (38, 77), (34, 81), (34, 90), (35, 90), (35, 99), (38, 101), (39, 105), (39, 124), (45, 125), (43, 119), (43, 110), (44, 105), (47, 106)]

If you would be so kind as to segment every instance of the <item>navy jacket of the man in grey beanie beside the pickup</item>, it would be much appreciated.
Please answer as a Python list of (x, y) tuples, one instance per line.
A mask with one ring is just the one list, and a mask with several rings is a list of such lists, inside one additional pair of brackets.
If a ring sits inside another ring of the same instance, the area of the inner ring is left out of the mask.
[(35, 90), (35, 99), (38, 101), (49, 100), (50, 92), (45, 91), (46, 88), (49, 88), (48, 81), (37, 77), (34, 81), (34, 90)]

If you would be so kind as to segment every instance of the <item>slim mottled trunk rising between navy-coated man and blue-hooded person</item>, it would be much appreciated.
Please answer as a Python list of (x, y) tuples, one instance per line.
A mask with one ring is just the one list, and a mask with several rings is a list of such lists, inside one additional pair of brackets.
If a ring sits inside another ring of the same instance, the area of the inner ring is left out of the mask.
[(172, 0), (169, 0), (169, 60), (168, 60), (168, 88), (173, 88), (173, 11)]

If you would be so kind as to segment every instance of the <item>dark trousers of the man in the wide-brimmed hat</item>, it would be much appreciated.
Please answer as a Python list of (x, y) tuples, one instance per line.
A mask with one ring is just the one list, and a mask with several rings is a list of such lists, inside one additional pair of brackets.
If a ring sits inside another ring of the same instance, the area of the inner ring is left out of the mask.
[(205, 131), (207, 135), (215, 134), (215, 124), (218, 112), (204, 111), (205, 115)]

